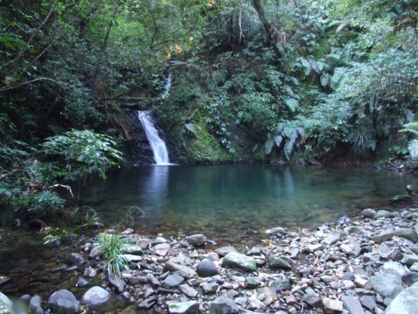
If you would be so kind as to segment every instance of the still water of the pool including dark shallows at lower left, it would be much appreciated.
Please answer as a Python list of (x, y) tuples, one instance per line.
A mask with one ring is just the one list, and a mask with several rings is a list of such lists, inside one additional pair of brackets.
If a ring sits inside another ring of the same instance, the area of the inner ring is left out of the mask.
[[(418, 178), (353, 168), (172, 165), (111, 172), (107, 180), (93, 179), (74, 191), (77, 196), (79, 190), (78, 206), (93, 208), (107, 227), (133, 227), (150, 235), (203, 233), (219, 245), (244, 250), (260, 245), (270, 227), (297, 230), (356, 216), (367, 207), (390, 209), (390, 198), (405, 193), (407, 184), (417, 185)], [(144, 216), (135, 216), (130, 206), (140, 207)], [(68, 288), (82, 297), (85, 288), (75, 287), (79, 269), (63, 270), (78, 239), (42, 246), (40, 234), (7, 225), (1, 230), (0, 276), (10, 277), (0, 283), (1, 291), (10, 297), (40, 294), (46, 300)]]

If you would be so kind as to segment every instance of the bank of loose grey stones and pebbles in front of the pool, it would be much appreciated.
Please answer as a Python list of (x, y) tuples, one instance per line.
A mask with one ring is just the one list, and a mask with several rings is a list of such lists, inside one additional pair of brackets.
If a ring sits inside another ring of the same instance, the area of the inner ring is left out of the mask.
[[(127, 229), (121, 278), (102, 272), (95, 238), (70, 253), (77, 300), (59, 290), (24, 296), (31, 313), (418, 313), (418, 211), (365, 209), (317, 230), (266, 230), (252, 248), (203, 234), (144, 237)], [(115, 230), (107, 230), (113, 234)], [(113, 310), (116, 300), (127, 301)], [(0, 313), (10, 301), (0, 294)]]

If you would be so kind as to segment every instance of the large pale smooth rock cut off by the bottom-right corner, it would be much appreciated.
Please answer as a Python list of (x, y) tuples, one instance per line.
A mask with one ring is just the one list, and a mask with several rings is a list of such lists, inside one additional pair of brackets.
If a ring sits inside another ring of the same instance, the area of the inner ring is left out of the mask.
[(417, 314), (418, 283), (400, 292), (386, 308), (385, 314)]

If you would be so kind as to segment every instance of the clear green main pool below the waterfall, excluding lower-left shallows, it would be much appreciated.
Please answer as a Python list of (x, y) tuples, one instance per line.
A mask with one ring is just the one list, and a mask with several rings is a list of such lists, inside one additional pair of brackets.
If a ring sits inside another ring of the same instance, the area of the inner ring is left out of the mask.
[[(367, 207), (388, 207), (416, 177), (369, 169), (282, 165), (146, 166), (82, 188), (82, 202), (104, 223), (139, 206), (134, 229), (144, 234), (203, 232), (240, 242), (274, 226), (315, 227)], [(248, 241), (248, 239), (247, 239)]]

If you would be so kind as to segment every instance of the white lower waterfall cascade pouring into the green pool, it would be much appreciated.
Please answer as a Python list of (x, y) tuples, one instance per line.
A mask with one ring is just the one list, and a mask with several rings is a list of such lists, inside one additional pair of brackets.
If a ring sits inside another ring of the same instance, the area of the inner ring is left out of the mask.
[(144, 126), (146, 138), (150, 142), (150, 147), (153, 149), (154, 160), (157, 165), (169, 165), (169, 152), (167, 151), (166, 144), (158, 136), (158, 131), (153, 124), (153, 120), (146, 111), (138, 112), (138, 119)]

